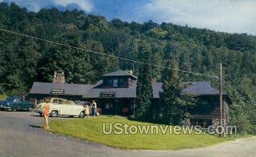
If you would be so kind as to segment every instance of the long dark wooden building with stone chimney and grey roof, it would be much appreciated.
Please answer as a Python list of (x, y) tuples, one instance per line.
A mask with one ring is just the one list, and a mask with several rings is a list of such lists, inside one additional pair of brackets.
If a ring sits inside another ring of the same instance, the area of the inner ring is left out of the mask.
[[(188, 86), (182, 92), (194, 94), (205, 99), (204, 104), (200, 104), (192, 110), (192, 124), (212, 125), (220, 117), (219, 90), (211, 86), (209, 81), (198, 81), (187, 83)], [(101, 108), (102, 114), (132, 115), (135, 109), (137, 76), (132, 71), (118, 70), (105, 74), (96, 84), (67, 84), (64, 73), (55, 71), (53, 83), (34, 82), (29, 92), (29, 100), (34, 104), (42, 102), (44, 97), (61, 97), (73, 101), (97, 102), (97, 107)], [(159, 92), (162, 91), (162, 83), (152, 79), (153, 103), (157, 105)], [(229, 119), (230, 99), (224, 93), (223, 117)]]

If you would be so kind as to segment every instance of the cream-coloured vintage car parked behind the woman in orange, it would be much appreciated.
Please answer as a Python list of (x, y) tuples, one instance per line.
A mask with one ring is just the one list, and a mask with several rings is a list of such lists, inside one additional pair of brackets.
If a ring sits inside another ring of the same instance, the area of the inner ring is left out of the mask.
[(50, 100), (51, 117), (57, 117), (58, 115), (68, 115), (69, 117), (78, 116), (83, 118), (85, 116), (84, 107), (82, 105), (76, 105), (73, 101), (55, 97), (43, 99), (42, 103), (36, 105), (34, 112), (37, 112), (42, 116), (42, 111), (44, 109), (46, 99)]

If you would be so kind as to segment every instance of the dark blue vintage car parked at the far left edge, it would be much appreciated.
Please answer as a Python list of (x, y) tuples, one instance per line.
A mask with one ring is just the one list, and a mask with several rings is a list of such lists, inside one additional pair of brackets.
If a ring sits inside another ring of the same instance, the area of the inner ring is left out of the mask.
[(11, 96), (4, 101), (0, 101), (1, 110), (32, 110), (33, 106), (31, 102), (24, 101), (20, 96)]

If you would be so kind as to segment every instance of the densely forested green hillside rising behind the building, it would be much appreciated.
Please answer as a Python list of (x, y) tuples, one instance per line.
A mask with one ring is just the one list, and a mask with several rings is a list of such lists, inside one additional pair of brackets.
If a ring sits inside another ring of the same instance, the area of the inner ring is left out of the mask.
[[(224, 91), (233, 102), (232, 115), (240, 117), (232, 122), (255, 124), (255, 36), (152, 21), (107, 21), (77, 10), (27, 12), (13, 3), (0, 3), (0, 28), (134, 60), (140, 59), (141, 44), (149, 44), (151, 63), (167, 66), (168, 61), (176, 60), (179, 69), (204, 74), (218, 76), (221, 62)], [(135, 64), (135, 74), (138, 66)], [(51, 82), (54, 70), (64, 70), (67, 83), (91, 84), (102, 74), (119, 69), (131, 70), (132, 63), (0, 30), (0, 94), (23, 94), (34, 81)], [(162, 71), (152, 67), (152, 77), (161, 81)], [(179, 74), (182, 81), (209, 80), (216, 87), (219, 81)]]

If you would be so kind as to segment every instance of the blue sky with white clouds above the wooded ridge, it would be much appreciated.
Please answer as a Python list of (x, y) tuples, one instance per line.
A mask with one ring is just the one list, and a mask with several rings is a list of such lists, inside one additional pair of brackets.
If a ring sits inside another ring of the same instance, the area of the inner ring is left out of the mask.
[(127, 22), (170, 22), (219, 32), (256, 35), (256, 0), (0, 0), (29, 11), (79, 9)]

